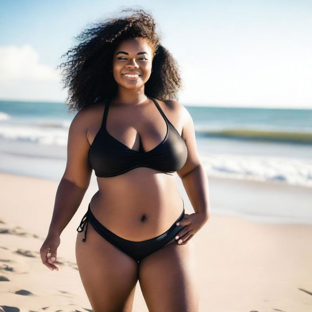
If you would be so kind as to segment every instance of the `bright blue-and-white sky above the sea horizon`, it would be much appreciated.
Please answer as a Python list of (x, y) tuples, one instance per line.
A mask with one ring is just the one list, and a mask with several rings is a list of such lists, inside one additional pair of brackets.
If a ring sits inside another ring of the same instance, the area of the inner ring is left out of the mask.
[(179, 65), (182, 104), (312, 108), (311, 0), (1, 0), (0, 99), (64, 102), (60, 56), (133, 5)]

